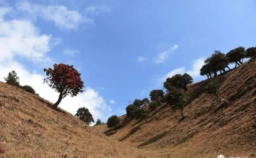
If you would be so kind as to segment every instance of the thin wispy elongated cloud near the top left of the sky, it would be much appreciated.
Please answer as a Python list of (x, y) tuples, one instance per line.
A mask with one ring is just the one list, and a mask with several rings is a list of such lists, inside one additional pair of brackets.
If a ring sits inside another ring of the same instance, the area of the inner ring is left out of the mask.
[(62, 29), (75, 30), (80, 24), (94, 24), (91, 18), (86, 18), (76, 10), (68, 10), (66, 6), (43, 6), (21, 2), (17, 5), (18, 10), (27, 12), (30, 15), (40, 16), (45, 20), (54, 22)]

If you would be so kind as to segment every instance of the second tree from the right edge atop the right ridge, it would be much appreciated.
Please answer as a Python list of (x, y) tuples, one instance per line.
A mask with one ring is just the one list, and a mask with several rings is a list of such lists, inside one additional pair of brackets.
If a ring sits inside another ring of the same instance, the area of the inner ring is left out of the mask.
[(244, 47), (240, 46), (238, 48), (230, 50), (226, 56), (229, 58), (230, 63), (235, 63), (236, 66), (242, 64), (243, 58), (246, 57), (246, 51)]

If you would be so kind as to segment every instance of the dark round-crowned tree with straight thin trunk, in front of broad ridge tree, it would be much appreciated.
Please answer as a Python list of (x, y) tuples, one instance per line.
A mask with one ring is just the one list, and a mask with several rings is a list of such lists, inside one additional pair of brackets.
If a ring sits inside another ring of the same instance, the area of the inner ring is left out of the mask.
[(172, 88), (166, 95), (166, 102), (174, 108), (180, 109), (181, 117), (184, 119), (184, 104), (186, 102), (186, 94), (181, 88)]

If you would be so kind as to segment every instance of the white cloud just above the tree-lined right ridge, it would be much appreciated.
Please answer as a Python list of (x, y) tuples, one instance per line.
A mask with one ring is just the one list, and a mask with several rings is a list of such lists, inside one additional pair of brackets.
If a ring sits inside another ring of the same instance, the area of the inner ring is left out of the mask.
[(204, 58), (198, 58), (198, 59), (193, 61), (192, 69), (186, 71), (186, 67), (176, 68), (176, 69), (168, 72), (168, 74), (166, 74), (162, 78), (162, 81), (166, 80), (166, 78), (168, 78), (168, 77), (172, 77), (176, 74), (184, 74), (185, 72), (190, 74), (190, 76), (192, 76), (193, 78), (194, 77), (199, 77), (200, 76), (200, 69), (202, 68), (203, 65), (204, 65)]

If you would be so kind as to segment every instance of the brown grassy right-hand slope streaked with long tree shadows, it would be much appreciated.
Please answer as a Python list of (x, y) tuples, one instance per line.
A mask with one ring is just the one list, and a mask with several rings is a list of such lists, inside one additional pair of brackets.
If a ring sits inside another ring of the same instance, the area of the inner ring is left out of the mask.
[(218, 94), (230, 102), (225, 106), (204, 91), (209, 80), (188, 86), (191, 103), (180, 111), (166, 104), (151, 112), (148, 122), (121, 116), (115, 132), (106, 125), (100, 132), (132, 146), (158, 151), (165, 157), (217, 157), (256, 155), (256, 59), (251, 59), (225, 75)]

